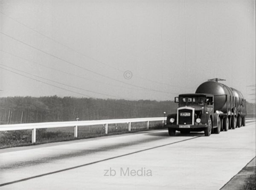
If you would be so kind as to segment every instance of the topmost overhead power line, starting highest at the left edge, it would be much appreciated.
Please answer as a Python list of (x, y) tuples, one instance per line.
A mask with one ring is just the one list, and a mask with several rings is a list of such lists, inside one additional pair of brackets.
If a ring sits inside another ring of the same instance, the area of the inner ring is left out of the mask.
[[(3, 13), (3, 12), (0, 12), (0, 13), (3, 14), (4, 16), (8, 17), (9, 19), (14, 20), (15, 22), (19, 23), (20, 25), (22, 25), (22, 26), (24, 26), (24, 27), (26, 27), (26, 28), (28, 28), (28, 29), (30, 29), (30, 30), (32, 30), (32, 31), (34, 31), (34, 32), (36, 32), (36, 33), (38, 33), (39, 35), (42, 35), (42, 36), (48, 38), (49, 40), (52, 40), (52, 41), (54, 41), (55, 43), (58, 43), (58, 44), (60, 44), (61, 46), (64, 46), (64, 47), (66, 47), (67, 49), (72, 50), (73, 52), (76, 52), (77, 54), (80, 54), (80, 55), (82, 55), (82, 56), (84, 56), (84, 57), (86, 57), (86, 58), (89, 58), (89, 59), (91, 59), (91, 60), (93, 60), (93, 61), (95, 61), (95, 62), (97, 62), (97, 63), (100, 63), (100, 64), (102, 64), (102, 65), (104, 65), (104, 66), (108, 66), (109, 68), (118, 70), (119, 72), (125, 72), (124, 70), (121, 70), (121, 69), (116, 68), (116, 67), (114, 67), (114, 66), (110, 66), (109, 64), (106, 64), (106, 63), (104, 63), (104, 62), (102, 62), (102, 61), (96, 60), (95, 58), (92, 58), (92, 57), (90, 57), (90, 56), (88, 56), (88, 55), (85, 55), (84, 53), (79, 52), (79, 51), (77, 51), (76, 49), (73, 49), (73, 48), (71, 48), (70, 46), (67, 46), (67, 45), (64, 44), (64, 43), (61, 43), (61, 42), (59, 42), (59, 41), (53, 39), (52, 37), (49, 37), (49, 36), (43, 34), (42, 32), (39, 32), (39, 31), (33, 29), (32, 27), (29, 27), (29, 26), (27, 26), (27, 25), (21, 23), (20, 21), (16, 20), (16, 19), (13, 18), (13, 17), (10, 17), (9, 15), (7, 15), (7, 14), (5, 14), (5, 13)], [(178, 87), (178, 88), (186, 88), (186, 87), (177, 86), (177, 85), (170, 85), (169, 83), (163, 83), (163, 82), (159, 82), (159, 81), (153, 81), (153, 80), (151, 80), (151, 79), (143, 78), (143, 77), (140, 77), (140, 76), (137, 76), (137, 75), (133, 75), (133, 76), (136, 77), (136, 78), (140, 78), (140, 79), (142, 79), (142, 80), (145, 80), (145, 81), (153, 82), (153, 83), (164, 84), (164, 85), (167, 85), (167, 86), (173, 86), (173, 87)]]

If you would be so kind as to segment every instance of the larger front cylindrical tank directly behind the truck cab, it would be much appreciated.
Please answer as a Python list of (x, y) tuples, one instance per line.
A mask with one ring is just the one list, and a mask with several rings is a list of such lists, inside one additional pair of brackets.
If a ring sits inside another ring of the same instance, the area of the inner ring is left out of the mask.
[(198, 86), (195, 93), (214, 95), (214, 111), (218, 110), (226, 113), (233, 109), (234, 91), (228, 86), (215, 81), (207, 81)]

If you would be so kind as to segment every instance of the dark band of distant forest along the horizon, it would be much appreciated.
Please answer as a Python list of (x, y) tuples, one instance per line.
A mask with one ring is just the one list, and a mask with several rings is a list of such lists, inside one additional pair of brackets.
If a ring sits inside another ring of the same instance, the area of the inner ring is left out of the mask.
[[(49, 121), (100, 120), (115, 118), (163, 117), (176, 112), (174, 101), (114, 100), (58, 96), (0, 98), (0, 124)], [(247, 103), (253, 114), (255, 104)]]

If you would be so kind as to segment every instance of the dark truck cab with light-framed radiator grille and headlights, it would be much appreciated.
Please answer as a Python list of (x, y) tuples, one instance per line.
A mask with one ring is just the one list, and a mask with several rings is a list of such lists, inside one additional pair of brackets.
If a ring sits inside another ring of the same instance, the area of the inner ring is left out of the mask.
[[(166, 127), (170, 136), (176, 131), (189, 133), (204, 131), (206, 136), (220, 132), (218, 113), (214, 113), (214, 96), (211, 94), (181, 94), (175, 97), (177, 113), (167, 115)], [(217, 129), (215, 129), (217, 128)]]

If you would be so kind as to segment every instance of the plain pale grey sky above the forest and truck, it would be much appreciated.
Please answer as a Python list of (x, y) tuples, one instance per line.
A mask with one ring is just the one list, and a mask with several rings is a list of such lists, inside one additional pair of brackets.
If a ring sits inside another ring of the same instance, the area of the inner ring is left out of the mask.
[(0, 0), (0, 97), (255, 99), (255, 0)]

